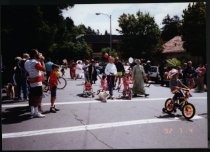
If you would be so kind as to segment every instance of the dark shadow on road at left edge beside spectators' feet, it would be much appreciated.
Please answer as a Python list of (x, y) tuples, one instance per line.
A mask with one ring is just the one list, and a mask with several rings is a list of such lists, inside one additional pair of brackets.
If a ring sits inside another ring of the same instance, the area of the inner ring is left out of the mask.
[(20, 123), (31, 119), (29, 106), (7, 108), (1, 114), (2, 124)]

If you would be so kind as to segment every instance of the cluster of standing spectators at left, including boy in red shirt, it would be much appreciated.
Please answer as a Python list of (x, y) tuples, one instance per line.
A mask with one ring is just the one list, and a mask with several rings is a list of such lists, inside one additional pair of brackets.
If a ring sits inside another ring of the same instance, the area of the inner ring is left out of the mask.
[[(15, 100), (29, 102), (31, 117), (43, 118), (41, 107), (43, 88), (42, 83), (49, 79), (51, 91), (50, 112), (59, 111), (55, 108), (56, 87), (59, 77), (59, 66), (50, 60), (45, 63), (45, 57), (37, 49), (32, 49), (29, 53), (24, 53), (22, 57), (15, 58), (13, 77), (11, 80), (14, 87)], [(46, 77), (45, 77), (46, 75)], [(22, 91), (22, 93), (21, 93)], [(21, 97), (23, 94), (23, 98)]]

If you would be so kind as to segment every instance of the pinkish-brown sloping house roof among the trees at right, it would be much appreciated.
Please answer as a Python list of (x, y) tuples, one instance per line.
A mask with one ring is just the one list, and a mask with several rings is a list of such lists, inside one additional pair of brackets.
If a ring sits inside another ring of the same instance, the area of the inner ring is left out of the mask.
[(162, 53), (180, 53), (185, 51), (181, 36), (175, 36), (162, 45)]

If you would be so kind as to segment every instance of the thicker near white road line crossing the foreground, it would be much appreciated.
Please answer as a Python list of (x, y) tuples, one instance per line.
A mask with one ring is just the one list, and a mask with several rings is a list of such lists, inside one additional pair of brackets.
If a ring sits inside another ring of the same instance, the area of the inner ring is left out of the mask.
[[(203, 117), (201, 116), (194, 116), (192, 120), (202, 119), (202, 118)], [(113, 122), (113, 123), (82, 125), (82, 126), (74, 126), (74, 127), (42, 129), (42, 130), (34, 130), (34, 131), (22, 131), (22, 132), (14, 132), (14, 133), (3, 133), (2, 139), (46, 135), (46, 134), (54, 134), (54, 133), (76, 132), (76, 131), (85, 131), (85, 130), (96, 130), (96, 129), (104, 129), (104, 128), (131, 126), (131, 125), (143, 125), (143, 124), (151, 124), (151, 123), (173, 122), (173, 121), (178, 121), (178, 120), (179, 118), (171, 118), (171, 119), (154, 118), (154, 119), (121, 121), (121, 122)]]

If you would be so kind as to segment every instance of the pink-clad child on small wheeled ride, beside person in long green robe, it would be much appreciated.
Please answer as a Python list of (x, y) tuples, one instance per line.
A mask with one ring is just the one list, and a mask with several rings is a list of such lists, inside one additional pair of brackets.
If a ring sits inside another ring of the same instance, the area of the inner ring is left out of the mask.
[(125, 99), (132, 99), (132, 87), (133, 87), (133, 82), (131, 79), (130, 73), (126, 72), (125, 75), (123, 76), (123, 92), (122, 92), (122, 98)]

